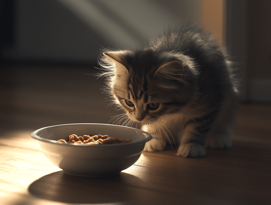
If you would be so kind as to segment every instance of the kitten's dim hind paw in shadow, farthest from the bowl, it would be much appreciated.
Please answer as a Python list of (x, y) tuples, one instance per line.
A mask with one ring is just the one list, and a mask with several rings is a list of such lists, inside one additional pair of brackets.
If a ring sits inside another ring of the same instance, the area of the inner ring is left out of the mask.
[(210, 149), (226, 149), (232, 147), (232, 141), (229, 135), (209, 136), (205, 147)]

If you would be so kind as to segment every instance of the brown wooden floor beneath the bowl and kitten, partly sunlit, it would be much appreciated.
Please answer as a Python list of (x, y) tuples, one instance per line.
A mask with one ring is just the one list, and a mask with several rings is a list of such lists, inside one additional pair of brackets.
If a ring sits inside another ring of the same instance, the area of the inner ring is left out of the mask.
[[(93, 68), (9, 66), (0, 71), (0, 204), (271, 204), (271, 105), (242, 104), (233, 147), (181, 158), (143, 153), (111, 178), (66, 175), (30, 133), (114, 122)], [(116, 123), (116, 122), (115, 122)]]

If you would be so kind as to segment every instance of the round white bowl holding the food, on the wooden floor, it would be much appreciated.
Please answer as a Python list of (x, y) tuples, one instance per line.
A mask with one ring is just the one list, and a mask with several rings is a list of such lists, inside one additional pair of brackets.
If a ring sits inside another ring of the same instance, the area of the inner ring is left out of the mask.
[[(108, 135), (132, 142), (119, 144), (86, 145), (63, 143), (71, 134)], [(70, 175), (105, 177), (116, 175), (132, 166), (140, 157), (145, 143), (152, 136), (139, 129), (108, 124), (65, 124), (38, 129), (31, 136), (39, 140), (44, 155), (56, 166)]]

